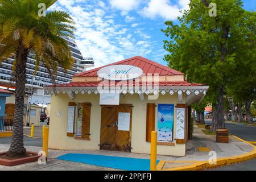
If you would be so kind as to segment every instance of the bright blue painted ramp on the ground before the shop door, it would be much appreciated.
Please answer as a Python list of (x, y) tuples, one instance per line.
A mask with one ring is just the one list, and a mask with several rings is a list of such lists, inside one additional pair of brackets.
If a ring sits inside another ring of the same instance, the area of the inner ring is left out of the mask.
[[(150, 159), (123, 158), (118, 156), (93, 155), (93, 154), (65, 154), (59, 160), (91, 164), (94, 166), (122, 169), (127, 171), (149, 171)], [(158, 163), (159, 160), (156, 161)]]

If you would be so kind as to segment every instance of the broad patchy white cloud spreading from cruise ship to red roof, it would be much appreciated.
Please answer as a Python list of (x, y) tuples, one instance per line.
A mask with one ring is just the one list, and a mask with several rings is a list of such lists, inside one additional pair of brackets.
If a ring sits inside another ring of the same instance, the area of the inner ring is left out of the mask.
[[(135, 39), (134, 27), (128, 27), (125, 22), (117, 22), (115, 11), (108, 9), (105, 3), (88, 4), (83, 0), (59, 0), (51, 8), (71, 14), (76, 22), (77, 46), (83, 56), (93, 57), (95, 67), (131, 56), (147, 56), (152, 52), (151, 37), (137, 28), (139, 32), (136, 35), (142, 40), (147, 39), (144, 44), (139, 45)], [(129, 15), (125, 18), (130, 21), (136, 20), (134, 16)]]

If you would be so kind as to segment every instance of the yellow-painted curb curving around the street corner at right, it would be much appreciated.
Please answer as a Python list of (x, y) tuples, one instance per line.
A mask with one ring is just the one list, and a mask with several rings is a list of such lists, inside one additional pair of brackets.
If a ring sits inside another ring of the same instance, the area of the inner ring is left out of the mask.
[[(207, 160), (204, 161), (172, 161), (172, 162), (177, 162), (177, 163), (188, 163), (191, 162), (193, 164), (189, 166), (183, 166), (183, 167), (174, 167), (174, 168), (169, 168), (169, 169), (162, 169), (164, 166), (164, 163), (168, 161), (160, 160), (158, 166), (156, 166), (156, 169), (158, 171), (199, 171), (199, 170), (204, 170), (204, 169), (211, 169), (211, 168), (216, 168), (220, 166), (226, 166), (228, 164), (234, 164), (234, 163), (240, 163), (245, 160), (250, 160), (253, 158), (256, 158), (256, 146), (253, 144), (246, 142), (245, 140), (238, 138), (234, 135), (232, 135), (234, 138), (241, 140), (244, 143), (249, 144), (250, 146), (253, 147), (253, 150), (248, 152), (247, 154), (242, 154), (242, 155), (236, 155), (236, 156), (231, 156), (228, 158), (218, 158), (216, 164), (209, 164)], [(171, 161), (170, 161), (171, 162)]]

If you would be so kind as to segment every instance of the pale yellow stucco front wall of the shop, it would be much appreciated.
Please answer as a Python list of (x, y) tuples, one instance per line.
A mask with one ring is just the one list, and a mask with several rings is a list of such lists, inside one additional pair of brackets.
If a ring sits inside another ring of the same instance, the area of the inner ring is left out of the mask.
[[(145, 101), (139, 99), (138, 94), (125, 94), (120, 96), (120, 104), (133, 104), (132, 131), (131, 131), (131, 152), (150, 154), (150, 142), (146, 142), (146, 104), (184, 104), (177, 100), (177, 93), (174, 95), (159, 94), (158, 100), (148, 100), (145, 94)], [(49, 125), (49, 148), (60, 150), (99, 150), (100, 147), (100, 126), (101, 126), (101, 106), (99, 104), (100, 95), (97, 94), (77, 94), (75, 100), (71, 101), (67, 94), (57, 94), (52, 96), (51, 102), (51, 122)], [(91, 102), (90, 118), (90, 140), (77, 140), (67, 137), (68, 102)], [(58, 111), (61, 115), (58, 116)], [(157, 109), (156, 109), (157, 116)], [(156, 117), (157, 119), (157, 117)], [(156, 121), (155, 121), (156, 128)], [(176, 107), (174, 110), (174, 138), (176, 138)], [(175, 140), (174, 140), (175, 141)], [(185, 155), (185, 144), (175, 144), (175, 146), (158, 145), (159, 155)]]

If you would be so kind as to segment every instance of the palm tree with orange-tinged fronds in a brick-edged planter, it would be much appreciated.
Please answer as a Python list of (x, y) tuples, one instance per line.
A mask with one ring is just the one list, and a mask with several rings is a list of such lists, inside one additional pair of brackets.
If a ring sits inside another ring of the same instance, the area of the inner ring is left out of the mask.
[[(57, 66), (69, 69), (73, 59), (64, 38), (73, 38), (73, 20), (63, 11), (46, 11), (42, 16), (39, 3), (46, 9), (56, 0), (0, 0), (0, 61), (14, 56), (15, 114), (13, 138), (7, 155), (24, 156), (23, 107), (27, 56), (36, 60), (36, 70), (43, 63), (55, 82)], [(42, 4), (41, 4), (42, 5)], [(35, 74), (35, 73), (34, 73)]]

